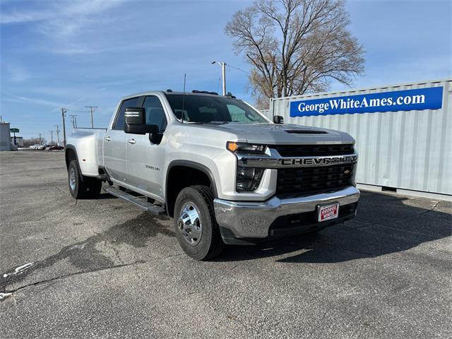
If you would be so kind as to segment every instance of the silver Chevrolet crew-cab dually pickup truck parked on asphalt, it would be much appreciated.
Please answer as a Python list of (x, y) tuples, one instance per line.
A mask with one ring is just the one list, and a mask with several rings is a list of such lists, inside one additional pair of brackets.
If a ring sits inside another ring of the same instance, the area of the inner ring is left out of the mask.
[(347, 133), (270, 121), (232, 96), (172, 90), (124, 97), (107, 129), (66, 145), (73, 198), (105, 191), (167, 213), (197, 260), (224, 244), (315, 232), (354, 218), (357, 153)]

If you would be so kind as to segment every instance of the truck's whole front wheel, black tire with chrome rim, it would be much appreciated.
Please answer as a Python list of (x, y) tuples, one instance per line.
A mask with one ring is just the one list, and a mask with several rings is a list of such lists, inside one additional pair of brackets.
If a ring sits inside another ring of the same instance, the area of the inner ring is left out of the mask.
[(196, 260), (214, 258), (225, 246), (208, 186), (190, 186), (180, 191), (174, 206), (174, 228), (179, 245)]

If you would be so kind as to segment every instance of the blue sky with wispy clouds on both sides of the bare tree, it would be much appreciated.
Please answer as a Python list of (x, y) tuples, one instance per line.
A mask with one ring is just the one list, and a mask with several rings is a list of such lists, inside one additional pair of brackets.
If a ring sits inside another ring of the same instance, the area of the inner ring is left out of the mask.
[[(25, 138), (61, 125), (61, 107), (104, 127), (120, 97), (144, 90), (220, 92), (216, 59), (247, 70), (224, 28), (251, 1), (0, 0), (3, 119)], [(452, 76), (452, 1), (348, 1), (366, 73), (352, 88)], [(246, 73), (227, 90), (252, 102)], [(331, 90), (343, 85), (331, 84)], [(68, 121), (69, 122), (69, 121)], [(70, 130), (70, 129), (69, 129)]]

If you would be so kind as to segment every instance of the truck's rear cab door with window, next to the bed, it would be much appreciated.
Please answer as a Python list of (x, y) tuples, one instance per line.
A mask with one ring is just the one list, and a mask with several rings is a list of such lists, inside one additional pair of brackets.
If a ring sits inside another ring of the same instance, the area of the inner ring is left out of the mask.
[(126, 181), (127, 174), (127, 140), (124, 132), (124, 111), (127, 107), (141, 107), (144, 97), (132, 97), (121, 103), (114, 119), (112, 129), (108, 129), (104, 139), (104, 166), (112, 179)]

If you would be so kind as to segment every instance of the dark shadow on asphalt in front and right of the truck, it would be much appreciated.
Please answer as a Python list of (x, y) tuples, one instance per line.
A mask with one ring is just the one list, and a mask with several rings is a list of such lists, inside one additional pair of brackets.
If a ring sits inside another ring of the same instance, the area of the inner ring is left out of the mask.
[[(446, 201), (362, 192), (358, 215), (354, 220), (318, 233), (268, 241), (256, 246), (227, 246), (216, 261), (283, 256), (277, 261), (338, 263), (383, 256), (450, 236), (451, 210), (452, 203)], [(296, 254), (290, 255), (293, 252)]]

